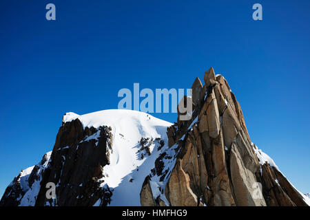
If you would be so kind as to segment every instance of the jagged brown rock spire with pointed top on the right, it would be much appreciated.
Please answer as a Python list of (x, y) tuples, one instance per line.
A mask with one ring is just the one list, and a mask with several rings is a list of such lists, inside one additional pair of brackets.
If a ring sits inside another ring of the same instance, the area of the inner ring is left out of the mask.
[(307, 206), (278, 168), (257, 155), (227, 80), (212, 67), (204, 80), (204, 86), (199, 78), (192, 85), (192, 118), (167, 129), (169, 146), (179, 151), (174, 166), (161, 174), (165, 205)]

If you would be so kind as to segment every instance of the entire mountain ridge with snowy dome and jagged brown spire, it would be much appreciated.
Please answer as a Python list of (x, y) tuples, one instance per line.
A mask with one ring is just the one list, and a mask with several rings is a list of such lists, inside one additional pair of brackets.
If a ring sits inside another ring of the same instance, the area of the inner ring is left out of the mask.
[(188, 121), (179, 106), (174, 124), (132, 110), (65, 113), (53, 150), (0, 206), (309, 206), (251, 142), (227, 80), (211, 67), (204, 81), (194, 80)]

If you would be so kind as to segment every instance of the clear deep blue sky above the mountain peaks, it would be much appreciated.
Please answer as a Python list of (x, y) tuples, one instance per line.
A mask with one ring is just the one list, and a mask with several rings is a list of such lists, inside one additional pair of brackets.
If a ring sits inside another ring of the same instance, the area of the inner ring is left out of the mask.
[[(56, 5), (46, 21), (45, 5)], [(251, 9), (262, 4), (262, 21)], [(121, 88), (188, 88), (214, 67), (251, 140), (310, 192), (310, 1), (0, 1), (0, 195), (51, 151), (63, 113)], [(154, 114), (176, 121), (176, 114)]]

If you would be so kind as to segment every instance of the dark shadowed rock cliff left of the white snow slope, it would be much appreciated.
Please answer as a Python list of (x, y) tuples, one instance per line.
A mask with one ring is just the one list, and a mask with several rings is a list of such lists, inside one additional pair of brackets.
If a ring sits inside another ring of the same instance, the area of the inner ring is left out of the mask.
[[(92, 206), (99, 198), (102, 205), (107, 205), (112, 191), (100, 185), (103, 183), (103, 166), (109, 164), (109, 154), (112, 151), (110, 131), (111, 128), (107, 126), (84, 129), (79, 119), (63, 123), (48, 161), (43, 157), (41, 164), (45, 163), (45, 166), (34, 166), (26, 177), (27, 181), (17, 181), (23, 175), (21, 172), (12, 186), (7, 188), (7, 193), (1, 199), (1, 206)], [(35, 179), (40, 181), (34, 201), (23, 203), (25, 192), (32, 190)], [(21, 188), (22, 182), (28, 184), (26, 189)], [(46, 197), (49, 188), (45, 186), (49, 182), (56, 184), (56, 197), (51, 199)]]

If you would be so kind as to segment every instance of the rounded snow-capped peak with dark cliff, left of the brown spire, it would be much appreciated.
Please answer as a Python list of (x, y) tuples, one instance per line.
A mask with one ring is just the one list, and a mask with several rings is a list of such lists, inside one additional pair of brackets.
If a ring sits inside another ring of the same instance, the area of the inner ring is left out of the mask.
[[(15, 198), (14, 204), (19, 206), (34, 206), (36, 202), (45, 206), (59, 206), (61, 205), (58, 203), (59, 199), (64, 201), (63, 204), (72, 203), (72, 199), (83, 202), (86, 195), (80, 191), (87, 188), (88, 174), (95, 173), (91, 177), (94, 180), (92, 187), (101, 189), (101, 192), (98, 195), (87, 195), (93, 197), (90, 199), (92, 205), (99, 206), (105, 203), (111, 206), (140, 206), (139, 194), (143, 181), (154, 169), (158, 155), (167, 150), (166, 132), (167, 127), (171, 125), (172, 123), (154, 118), (147, 113), (125, 109), (96, 111), (85, 115), (65, 113), (54, 150), (47, 153), (48, 159), (45, 158), (45, 162), (40, 163), (42, 168), (34, 170), (35, 166), (32, 166), (21, 171), (10, 184), (18, 186), (20, 190), (9, 186), (3, 197), (18, 191), (19, 197)], [(96, 154), (101, 157), (96, 157)], [(48, 163), (49, 161), (51, 162)], [(82, 166), (87, 164), (92, 167), (84, 172), (85, 167)], [(42, 181), (42, 172), (47, 167), (54, 167), (53, 170), (56, 167), (56, 170), (50, 173), (48, 180)], [(70, 174), (66, 172), (70, 169), (76, 170), (74, 174), (78, 176), (76, 179), (74, 177), (68, 179)], [(42, 201), (39, 201), (40, 181), (31, 186), (28, 182), (34, 173), (41, 181), (41, 185), (48, 181), (56, 185), (59, 190), (56, 199), (47, 201), (41, 198)], [(85, 175), (79, 177), (80, 173)], [(75, 192), (74, 196), (68, 199), (70, 201), (65, 201), (63, 198), (64, 192), (68, 191), (65, 185), (69, 185), (72, 188), (70, 190)], [(103, 201), (100, 197), (107, 194), (111, 198)], [(37, 197), (39, 199), (36, 201)], [(131, 199), (122, 199), (123, 197)]]

